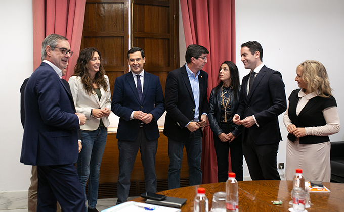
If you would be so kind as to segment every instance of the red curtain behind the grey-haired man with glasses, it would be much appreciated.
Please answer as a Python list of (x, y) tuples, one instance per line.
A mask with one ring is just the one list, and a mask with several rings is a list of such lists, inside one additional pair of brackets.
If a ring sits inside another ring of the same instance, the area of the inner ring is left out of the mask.
[(41, 63), (41, 44), (52, 33), (65, 36), (74, 51), (69, 59), (66, 76), (74, 72), (79, 57), (86, 0), (32, 0), (33, 10), (33, 68)]

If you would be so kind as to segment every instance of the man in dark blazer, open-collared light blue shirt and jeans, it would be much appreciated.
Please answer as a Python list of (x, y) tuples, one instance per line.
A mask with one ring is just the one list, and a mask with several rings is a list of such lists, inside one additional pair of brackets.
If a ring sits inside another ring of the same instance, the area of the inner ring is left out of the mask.
[(183, 149), (186, 148), (190, 185), (202, 183), (202, 129), (208, 113), (208, 74), (202, 70), (209, 51), (189, 45), (186, 64), (168, 73), (165, 87), (165, 126), (168, 137), (168, 189), (180, 187)]

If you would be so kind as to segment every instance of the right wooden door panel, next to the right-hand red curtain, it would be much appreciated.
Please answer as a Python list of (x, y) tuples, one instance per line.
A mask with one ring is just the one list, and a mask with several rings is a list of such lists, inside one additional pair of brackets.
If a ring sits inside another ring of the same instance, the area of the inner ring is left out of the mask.
[(178, 0), (135, 0), (133, 7), (133, 46), (145, 51), (145, 71), (160, 78), (165, 92), (166, 76), (179, 67)]

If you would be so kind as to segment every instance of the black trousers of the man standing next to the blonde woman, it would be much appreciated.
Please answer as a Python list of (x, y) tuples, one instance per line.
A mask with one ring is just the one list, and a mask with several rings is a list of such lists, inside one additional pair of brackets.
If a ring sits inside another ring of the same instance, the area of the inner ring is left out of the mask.
[(279, 142), (256, 145), (245, 129), (242, 150), (252, 180), (281, 180), (277, 170), (277, 151)]

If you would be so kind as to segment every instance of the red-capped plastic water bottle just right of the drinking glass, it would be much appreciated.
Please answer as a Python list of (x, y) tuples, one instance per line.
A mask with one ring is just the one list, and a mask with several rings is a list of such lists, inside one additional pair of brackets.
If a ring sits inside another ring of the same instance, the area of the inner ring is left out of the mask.
[(238, 211), (238, 181), (235, 179), (235, 173), (228, 173), (226, 181), (226, 210), (227, 212)]

